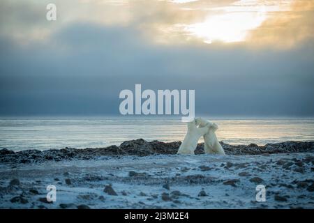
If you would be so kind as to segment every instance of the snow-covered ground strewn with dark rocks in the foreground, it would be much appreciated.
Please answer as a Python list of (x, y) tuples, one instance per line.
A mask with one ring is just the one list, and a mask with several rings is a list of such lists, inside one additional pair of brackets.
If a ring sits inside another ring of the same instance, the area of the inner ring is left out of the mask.
[(313, 153), (1, 163), (0, 208), (314, 208), (313, 163)]

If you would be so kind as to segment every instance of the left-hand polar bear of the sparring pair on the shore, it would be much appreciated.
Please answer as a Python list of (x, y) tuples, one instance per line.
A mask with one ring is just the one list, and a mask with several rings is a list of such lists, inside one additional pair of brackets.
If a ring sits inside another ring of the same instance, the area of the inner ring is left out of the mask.
[(204, 123), (202, 128), (197, 128), (196, 120), (188, 122), (188, 132), (186, 132), (186, 137), (179, 147), (177, 154), (193, 154), (197, 146), (198, 139), (202, 135), (206, 134), (209, 131), (209, 123)]

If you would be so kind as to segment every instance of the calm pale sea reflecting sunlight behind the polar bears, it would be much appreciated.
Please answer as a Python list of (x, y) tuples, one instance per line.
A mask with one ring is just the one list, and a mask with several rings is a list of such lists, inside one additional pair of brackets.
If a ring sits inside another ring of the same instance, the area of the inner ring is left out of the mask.
[[(314, 141), (314, 119), (211, 118), (217, 137), (228, 144), (267, 144)], [(143, 138), (148, 141), (184, 139), (186, 124), (179, 118), (1, 118), (0, 148), (26, 149), (103, 147)], [(202, 141), (202, 139), (200, 140)]]

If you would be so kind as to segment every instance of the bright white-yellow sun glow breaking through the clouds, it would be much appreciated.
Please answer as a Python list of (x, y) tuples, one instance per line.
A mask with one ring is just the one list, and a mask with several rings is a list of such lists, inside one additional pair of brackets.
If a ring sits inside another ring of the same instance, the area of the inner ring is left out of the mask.
[(266, 17), (262, 12), (224, 13), (207, 17), (207, 20), (201, 23), (187, 25), (184, 31), (202, 38), (204, 43), (241, 42), (246, 40), (248, 32), (260, 26)]

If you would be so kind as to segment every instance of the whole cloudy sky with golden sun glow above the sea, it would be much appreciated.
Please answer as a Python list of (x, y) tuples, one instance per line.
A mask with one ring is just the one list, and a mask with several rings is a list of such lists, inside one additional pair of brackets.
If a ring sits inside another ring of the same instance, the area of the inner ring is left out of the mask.
[(314, 0), (2, 0), (0, 115), (118, 115), (142, 84), (195, 90), (197, 115), (312, 117), (313, 40)]

